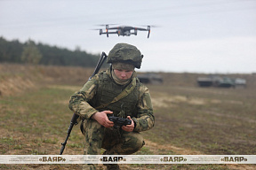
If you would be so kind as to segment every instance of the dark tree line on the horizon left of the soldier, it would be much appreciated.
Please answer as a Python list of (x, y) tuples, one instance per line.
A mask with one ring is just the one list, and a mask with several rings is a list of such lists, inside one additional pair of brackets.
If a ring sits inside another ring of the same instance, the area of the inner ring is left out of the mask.
[(22, 43), (0, 37), (0, 63), (94, 67), (99, 58), (100, 54), (89, 54), (79, 48), (68, 50), (32, 40)]

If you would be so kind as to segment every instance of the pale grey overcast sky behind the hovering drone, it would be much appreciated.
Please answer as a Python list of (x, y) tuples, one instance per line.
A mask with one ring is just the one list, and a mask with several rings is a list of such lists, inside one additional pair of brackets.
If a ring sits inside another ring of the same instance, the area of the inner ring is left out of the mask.
[[(156, 27), (107, 38), (100, 24)], [(256, 73), (256, 0), (0, 0), (0, 36), (95, 54), (131, 43), (143, 72)]]

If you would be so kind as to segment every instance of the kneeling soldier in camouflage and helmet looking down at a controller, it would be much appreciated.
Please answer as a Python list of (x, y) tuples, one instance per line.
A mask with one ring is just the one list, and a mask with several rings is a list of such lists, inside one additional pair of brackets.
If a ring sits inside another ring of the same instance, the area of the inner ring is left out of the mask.
[[(141, 131), (154, 127), (155, 117), (148, 88), (140, 83), (134, 68), (143, 56), (135, 46), (117, 43), (109, 51), (107, 71), (100, 72), (84, 84), (69, 101), (69, 108), (83, 120), (85, 155), (129, 155), (145, 144)], [(109, 116), (130, 120), (126, 126), (115, 126)], [(108, 165), (108, 169), (119, 169)], [(86, 166), (96, 169), (96, 165)]]

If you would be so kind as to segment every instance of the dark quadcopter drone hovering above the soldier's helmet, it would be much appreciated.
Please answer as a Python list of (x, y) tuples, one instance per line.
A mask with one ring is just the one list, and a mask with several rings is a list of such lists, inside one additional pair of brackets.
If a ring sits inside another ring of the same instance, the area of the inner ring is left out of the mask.
[(141, 28), (141, 27), (130, 27), (130, 26), (109, 27), (108, 25), (106, 25), (106, 32), (103, 32), (102, 29), (100, 29), (100, 35), (107, 35), (107, 37), (110, 34), (117, 34), (118, 36), (120, 35), (130, 36), (130, 35), (137, 35), (138, 30), (148, 31), (148, 38), (149, 38), (150, 26), (147, 26), (147, 28)]

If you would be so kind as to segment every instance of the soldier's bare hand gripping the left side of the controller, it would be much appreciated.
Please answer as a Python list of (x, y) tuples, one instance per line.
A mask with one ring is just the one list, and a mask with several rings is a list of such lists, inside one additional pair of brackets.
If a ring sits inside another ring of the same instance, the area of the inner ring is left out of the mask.
[(112, 113), (111, 111), (96, 112), (92, 115), (92, 119), (97, 120), (105, 128), (111, 128), (114, 126), (114, 122), (108, 120), (107, 114)]

